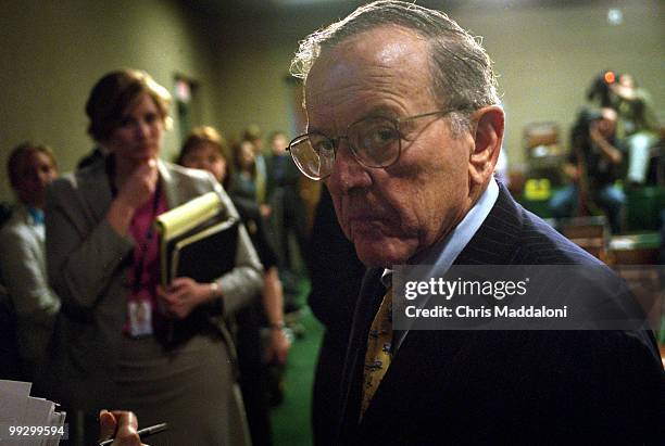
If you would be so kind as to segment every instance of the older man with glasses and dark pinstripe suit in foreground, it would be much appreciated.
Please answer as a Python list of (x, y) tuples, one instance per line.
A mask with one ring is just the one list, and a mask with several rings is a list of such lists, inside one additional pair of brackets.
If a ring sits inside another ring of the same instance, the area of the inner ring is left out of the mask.
[[(494, 180), (504, 114), (491, 62), (444, 14), (399, 1), (361, 7), (303, 40), (291, 68), (304, 80), (308, 133), (289, 150), (304, 175), (326, 181), (369, 267), (332, 443), (663, 439), (650, 331), (396, 330), (382, 344), (389, 358), (368, 361), (368, 339), (389, 333), (375, 323), (396, 265), (603, 267)], [(377, 368), (378, 386), (367, 379)]]

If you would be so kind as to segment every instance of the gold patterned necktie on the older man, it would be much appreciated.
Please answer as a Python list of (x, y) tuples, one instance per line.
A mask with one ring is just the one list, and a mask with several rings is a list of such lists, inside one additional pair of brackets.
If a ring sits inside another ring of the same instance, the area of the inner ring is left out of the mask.
[(374, 316), (367, 335), (367, 353), (363, 374), (363, 403), (361, 418), (386, 374), (392, 359), (392, 286), (388, 289)]

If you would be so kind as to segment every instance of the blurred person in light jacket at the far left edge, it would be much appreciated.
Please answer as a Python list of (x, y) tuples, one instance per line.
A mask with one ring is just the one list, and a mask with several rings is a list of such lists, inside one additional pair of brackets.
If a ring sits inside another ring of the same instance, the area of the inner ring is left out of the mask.
[(25, 142), (10, 154), (7, 173), (18, 203), (0, 230), (0, 277), (13, 309), (21, 379), (33, 381), (60, 309), (48, 284), (43, 219), (46, 190), (58, 178), (58, 164), (50, 148)]

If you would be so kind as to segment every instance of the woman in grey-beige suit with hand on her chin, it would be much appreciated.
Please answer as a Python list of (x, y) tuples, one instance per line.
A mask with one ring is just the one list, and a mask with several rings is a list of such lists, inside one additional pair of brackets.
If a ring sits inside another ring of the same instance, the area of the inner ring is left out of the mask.
[(106, 155), (49, 190), (47, 260), (63, 305), (42, 383), (70, 409), (122, 407), (149, 424), (168, 422), (152, 444), (243, 444), (223, 316), (256, 295), (262, 268), (241, 227), (229, 272), (160, 285), (156, 216), (216, 191), (237, 217), (212, 176), (158, 160), (170, 102), (134, 69), (108, 74), (90, 93), (88, 132)]

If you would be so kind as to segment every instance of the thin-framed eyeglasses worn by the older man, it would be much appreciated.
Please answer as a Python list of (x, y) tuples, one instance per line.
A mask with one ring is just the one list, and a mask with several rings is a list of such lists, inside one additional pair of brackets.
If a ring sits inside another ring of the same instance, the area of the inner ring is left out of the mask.
[(439, 110), (402, 118), (368, 116), (349, 125), (344, 136), (330, 138), (312, 131), (293, 139), (287, 150), (300, 171), (313, 180), (322, 180), (332, 173), (335, 154), (342, 139), (348, 141), (353, 157), (361, 165), (386, 168), (400, 158), (403, 138), (400, 124), (451, 112), (453, 110)]

